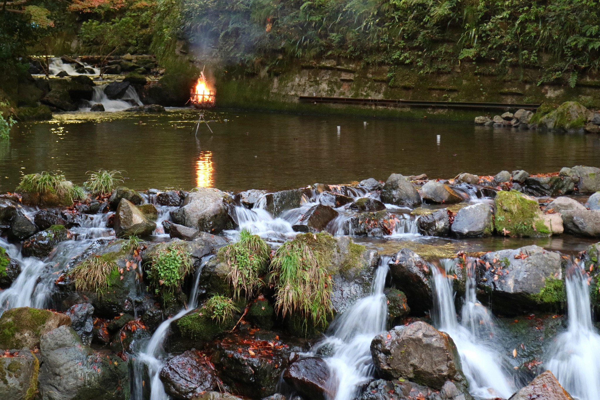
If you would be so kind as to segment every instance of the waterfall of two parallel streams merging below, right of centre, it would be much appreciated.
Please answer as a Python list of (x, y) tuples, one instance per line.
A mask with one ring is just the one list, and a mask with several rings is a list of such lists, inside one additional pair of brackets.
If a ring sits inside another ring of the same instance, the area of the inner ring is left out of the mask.
[[(467, 293), (463, 306), (462, 324), (458, 323), (452, 289), (452, 260), (442, 260), (446, 270), (433, 267), (434, 313), (437, 329), (448, 333), (456, 344), (463, 372), (469, 381), (472, 395), (483, 399), (508, 399), (515, 392), (511, 381), (502, 369), (502, 356), (484, 344), (485, 335), (493, 330), (487, 309), (475, 297), (475, 274), (472, 263), (467, 263)], [(489, 335), (487, 338), (489, 339)]]

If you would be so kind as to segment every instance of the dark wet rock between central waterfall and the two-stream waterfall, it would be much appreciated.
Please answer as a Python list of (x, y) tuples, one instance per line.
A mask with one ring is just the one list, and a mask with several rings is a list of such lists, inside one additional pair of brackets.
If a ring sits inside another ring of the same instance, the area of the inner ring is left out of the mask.
[(430, 269), (414, 251), (403, 248), (389, 261), (389, 269), (395, 286), (406, 293), (413, 312), (428, 312), (433, 304)]

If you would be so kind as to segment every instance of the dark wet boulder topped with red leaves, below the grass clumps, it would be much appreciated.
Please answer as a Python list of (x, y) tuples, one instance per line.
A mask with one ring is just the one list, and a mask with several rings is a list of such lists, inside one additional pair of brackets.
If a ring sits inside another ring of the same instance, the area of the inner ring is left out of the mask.
[(275, 337), (268, 332), (233, 333), (215, 345), (211, 360), (233, 392), (252, 398), (275, 393), (290, 354), (288, 346)]

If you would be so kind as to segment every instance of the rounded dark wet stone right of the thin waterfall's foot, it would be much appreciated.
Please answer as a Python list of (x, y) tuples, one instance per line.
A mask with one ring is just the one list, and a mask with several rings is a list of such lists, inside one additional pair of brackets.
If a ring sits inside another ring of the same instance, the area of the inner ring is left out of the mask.
[(176, 399), (193, 399), (215, 389), (217, 377), (202, 352), (188, 350), (169, 359), (160, 371), (167, 395)]

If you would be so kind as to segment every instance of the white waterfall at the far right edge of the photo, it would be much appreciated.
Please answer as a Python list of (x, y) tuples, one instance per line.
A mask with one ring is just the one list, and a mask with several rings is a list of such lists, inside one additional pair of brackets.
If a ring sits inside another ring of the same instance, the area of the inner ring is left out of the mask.
[(546, 367), (574, 398), (600, 400), (600, 335), (592, 325), (590, 287), (583, 263), (566, 278), (569, 327), (560, 334)]

